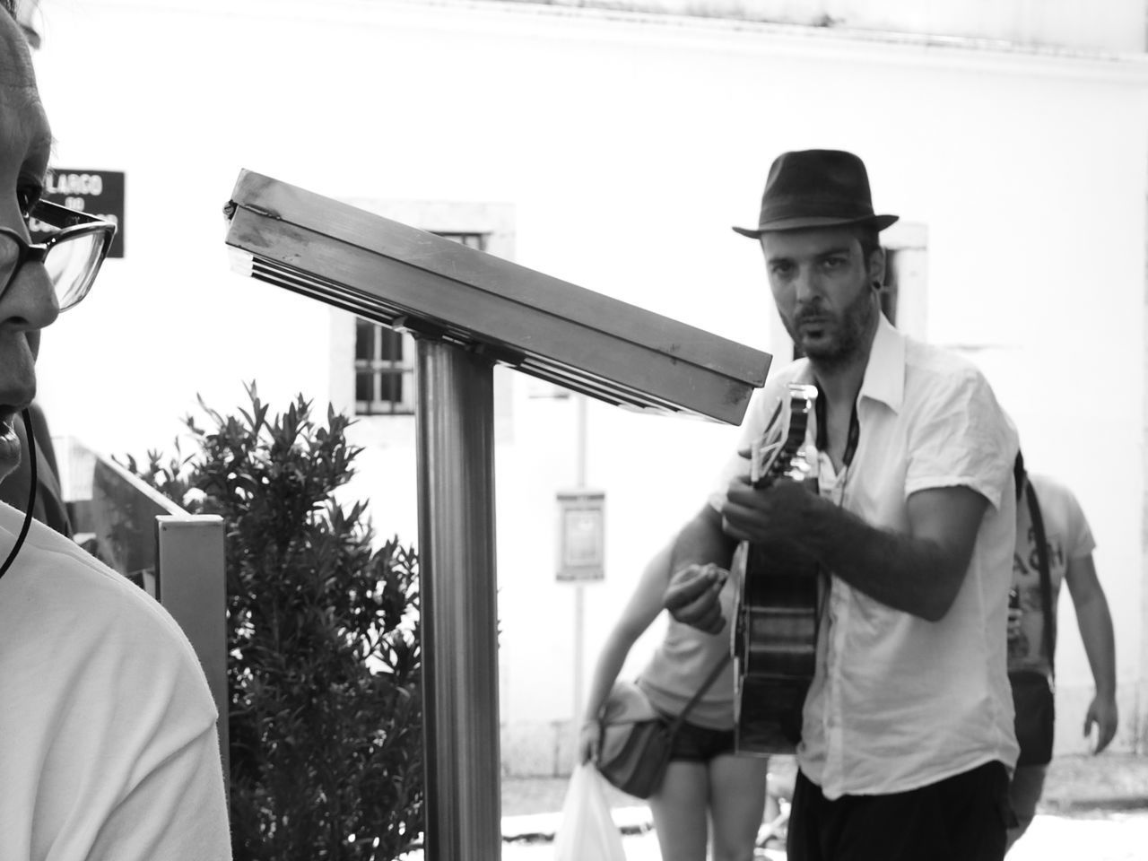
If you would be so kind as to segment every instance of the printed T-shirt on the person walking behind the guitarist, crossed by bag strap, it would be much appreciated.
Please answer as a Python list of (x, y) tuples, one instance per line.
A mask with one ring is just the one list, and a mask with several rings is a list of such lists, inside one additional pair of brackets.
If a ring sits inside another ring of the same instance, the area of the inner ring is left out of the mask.
[[(1052, 585), (1053, 618), (1056, 600), (1070, 559), (1083, 559), (1096, 549), (1096, 542), (1088, 528), (1088, 520), (1076, 496), (1064, 484), (1047, 475), (1029, 475), (1032, 489), (1037, 491), (1041, 520), (1045, 525), (1045, 541), (1048, 548), (1048, 579)], [(1016, 552), (1013, 556), (1013, 588), (1021, 600), (1021, 635), (1008, 644), (1008, 668), (1037, 669), (1052, 673), (1048, 654), (1042, 647), (1045, 636), (1045, 613), (1041, 603), (1040, 568), (1037, 557), (1037, 536), (1029, 515), (1024, 494), (1016, 515)], [(1055, 652), (1055, 638), (1053, 642)]]

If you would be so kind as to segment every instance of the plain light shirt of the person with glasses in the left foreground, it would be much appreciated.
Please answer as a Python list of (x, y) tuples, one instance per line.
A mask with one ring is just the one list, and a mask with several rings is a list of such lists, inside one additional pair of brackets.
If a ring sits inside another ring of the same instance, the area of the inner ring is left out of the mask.
[[(22, 521), (0, 503), (0, 545)], [(33, 521), (0, 579), (0, 859), (231, 859), (216, 716), (168, 612)]]

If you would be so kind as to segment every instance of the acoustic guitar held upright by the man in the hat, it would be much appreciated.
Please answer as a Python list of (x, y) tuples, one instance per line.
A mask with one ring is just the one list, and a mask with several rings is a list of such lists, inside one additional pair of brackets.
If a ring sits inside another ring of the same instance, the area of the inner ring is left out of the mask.
[[(805, 433), (815, 386), (791, 383), (765, 433), (751, 448), (750, 480), (765, 488), (782, 478), (806, 481)], [(792, 753), (813, 681), (821, 581), (808, 557), (743, 542), (732, 625), (735, 744), (739, 753)]]

